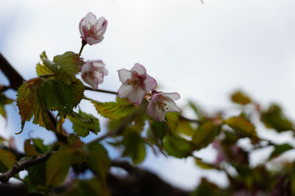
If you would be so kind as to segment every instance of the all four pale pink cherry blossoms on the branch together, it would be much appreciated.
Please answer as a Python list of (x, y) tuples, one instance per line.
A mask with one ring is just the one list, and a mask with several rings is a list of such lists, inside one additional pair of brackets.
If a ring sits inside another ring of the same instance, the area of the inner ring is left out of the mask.
[[(79, 24), (82, 39), (82, 48), (86, 45), (98, 44), (103, 41), (107, 29), (107, 20), (88, 13)], [(150, 102), (147, 105), (147, 115), (156, 121), (164, 121), (166, 112), (180, 112), (175, 100), (181, 98), (178, 93), (163, 93), (156, 91), (157, 81), (146, 73), (145, 67), (136, 63), (131, 70), (118, 70), (119, 81), (122, 82), (117, 94), (119, 98), (128, 98), (132, 103), (140, 105), (147, 92), (151, 91)], [(87, 61), (81, 67), (81, 77), (93, 89), (98, 89), (98, 84), (103, 82), (107, 75), (105, 64), (101, 60)]]

